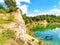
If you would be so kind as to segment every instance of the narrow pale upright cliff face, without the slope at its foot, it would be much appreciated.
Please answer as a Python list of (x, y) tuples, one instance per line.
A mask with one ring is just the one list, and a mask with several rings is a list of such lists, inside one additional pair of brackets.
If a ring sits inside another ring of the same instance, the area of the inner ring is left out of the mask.
[(17, 11), (13, 12), (12, 14), (15, 18), (16, 25), (18, 25), (18, 27), (17, 27), (18, 31), (16, 30), (17, 36), (19, 37), (19, 35), (20, 35), (20, 39), (25, 40), (24, 36), (25, 36), (25, 33), (26, 33), (26, 28), (25, 28), (25, 22), (22, 18), (22, 13), (21, 13), (20, 9), (17, 9)]

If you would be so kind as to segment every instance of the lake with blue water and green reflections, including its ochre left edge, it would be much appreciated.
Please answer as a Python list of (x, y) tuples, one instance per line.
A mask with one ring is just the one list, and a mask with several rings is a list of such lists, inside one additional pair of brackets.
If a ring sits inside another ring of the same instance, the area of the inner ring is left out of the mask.
[[(30, 27), (32, 27), (32, 25)], [(42, 40), (46, 45), (59, 45), (59, 42), (60, 42), (60, 38), (59, 38), (60, 24), (59, 23), (48, 23), (46, 25), (44, 24), (36, 25), (35, 23), (33, 28), (28, 28), (28, 29), (30, 29), (30, 30), (27, 30), (28, 34)], [(46, 37), (47, 39), (45, 39)]]

